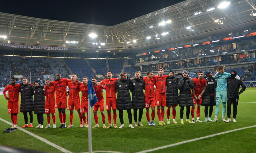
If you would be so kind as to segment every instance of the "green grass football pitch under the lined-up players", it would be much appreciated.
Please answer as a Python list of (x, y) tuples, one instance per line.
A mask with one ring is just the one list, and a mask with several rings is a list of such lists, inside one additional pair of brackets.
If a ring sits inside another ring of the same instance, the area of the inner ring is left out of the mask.
[[(144, 109), (142, 124), (143, 127), (129, 128), (127, 112), (124, 111), (124, 128), (123, 129), (103, 129), (101, 114), (98, 111), (99, 127), (92, 129), (92, 150), (93, 151), (117, 151), (117, 152), (139, 152), (143, 150), (153, 149), (165, 145), (174, 144), (181, 141), (209, 136), (211, 134), (221, 133), (229, 130), (238, 129), (256, 125), (255, 109), (256, 109), (256, 88), (246, 88), (245, 92), (240, 95), (237, 111), (237, 123), (221, 122), (221, 109), (217, 123), (195, 123), (184, 125), (180, 124), (180, 107), (176, 107), (176, 121), (178, 124), (171, 123), (170, 125), (159, 126), (157, 113), (155, 115), (155, 123), (157, 126), (148, 126), (146, 119), (146, 110)], [(105, 91), (103, 92), (105, 96)], [(7, 114), (7, 100), (3, 95), (0, 95), (0, 118), (11, 122), (10, 114)], [(214, 118), (214, 110), (212, 119)], [(233, 116), (231, 110), (231, 118)], [(69, 125), (69, 111), (66, 110), (67, 119), (66, 125)], [(80, 128), (78, 113), (74, 111), (73, 127), (59, 129), (60, 121), (58, 111), (56, 110), (56, 129), (36, 129), (37, 116), (34, 114), (33, 128), (25, 128), (31, 133), (39, 137), (61, 146), (70, 152), (88, 152), (88, 128)], [(106, 126), (108, 126), (108, 116), (106, 115)], [(91, 115), (92, 126), (95, 125), (93, 114)], [(196, 116), (196, 113), (195, 113)], [(151, 111), (150, 111), (151, 118)], [(185, 110), (184, 110), (185, 118)], [(200, 119), (204, 121), (204, 106), (201, 107)], [(227, 119), (227, 117), (225, 117)], [(191, 114), (190, 114), (191, 119)], [(170, 114), (172, 121), (172, 112)], [(167, 122), (166, 108), (164, 122)], [(18, 114), (18, 126), (24, 125), (23, 114)], [(51, 126), (52, 126), (51, 118)], [(44, 127), (47, 125), (46, 115), (44, 114)], [(113, 125), (113, 113), (112, 113)], [(133, 119), (134, 125), (134, 119)], [(120, 126), (118, 111), (117, 111), (117, 126)], [(16, 129), (12, 133), (3, 133), (7, 127), (11, 127), (7, 123), (0, 121), (0, 145), (12, 146), (16, 148), (33, 149), (43, 152), (61, 152), (60, 150), (46, 144), (30, 136), (29, 134)], [(256, 142), (256, 127), (239, 130), (203, 140), (188, 142), (185, 144), (172, 146), (169, 148), (157, 150), (154, 152), (255, 152)]]

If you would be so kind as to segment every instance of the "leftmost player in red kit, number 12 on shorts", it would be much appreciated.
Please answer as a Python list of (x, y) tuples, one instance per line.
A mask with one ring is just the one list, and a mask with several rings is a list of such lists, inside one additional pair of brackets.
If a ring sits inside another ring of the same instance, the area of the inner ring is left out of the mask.
[[(20, 84), (16, 84), (16, 79), (11, 79), (11, 85), (7, 85), (3, 91), (7, 103), (7, 113), (11, 114), (13, 126), (12, 129), (17, 129), (17, 114), (19, 113), (19, 88)], [(8, 97), (6, 96), (8, 91)]]

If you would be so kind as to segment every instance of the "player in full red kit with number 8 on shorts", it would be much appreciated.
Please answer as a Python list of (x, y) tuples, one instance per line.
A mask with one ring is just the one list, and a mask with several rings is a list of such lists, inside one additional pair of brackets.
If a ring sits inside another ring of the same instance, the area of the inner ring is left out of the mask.
[(106, 129), (109, 129), (112, 127), (112, 117), (111, 117), (111, 107), (113, 111), (113, 120), (114, 120), (114, 128), (116, 129), (116, 81), (118, 78), (112, 78), (113, 74), (111, 71), (107, 72), (108, 79), (104, 79), (101, 82), (98, 83), (98, 86), (104, 85), (106, 87), (106, 110), (108, 111), (108, 120), (109, 125), (106, 127)]

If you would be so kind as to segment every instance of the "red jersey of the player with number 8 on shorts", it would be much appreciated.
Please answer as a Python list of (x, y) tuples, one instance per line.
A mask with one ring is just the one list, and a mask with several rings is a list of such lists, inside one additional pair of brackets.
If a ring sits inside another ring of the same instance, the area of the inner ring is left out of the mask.
[(105, 84), (106, 97), (116, 97), (116, 81), (118, 78), (104, 79), (101, 81), (101, 85)]

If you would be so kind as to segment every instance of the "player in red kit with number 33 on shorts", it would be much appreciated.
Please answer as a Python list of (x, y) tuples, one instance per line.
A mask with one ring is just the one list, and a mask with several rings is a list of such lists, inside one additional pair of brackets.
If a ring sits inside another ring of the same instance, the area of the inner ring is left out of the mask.
[[(147, 77), (144, 77), (145, 81), (145, 108), (148, 125), (155, 126), (155, 79), (153, 78), (153, 72), (148, 71)], [(149, 116), (149, 108), (151, 107), (151, 122)]]

